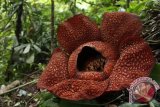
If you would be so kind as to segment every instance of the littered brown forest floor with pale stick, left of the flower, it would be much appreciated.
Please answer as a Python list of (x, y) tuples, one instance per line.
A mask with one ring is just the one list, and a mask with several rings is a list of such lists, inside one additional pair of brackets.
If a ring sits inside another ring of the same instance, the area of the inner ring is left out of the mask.
[(36, 87), (36, 81), (39, 75), (39, 72), (35, 72), (26, 75), (23, 80), (1, 86), (1, 89), (7, 86), (10, 88), (3, 94), (0, 93), (0, 107), (37, 107), (39, 104), (37, 96), (40, 90)]

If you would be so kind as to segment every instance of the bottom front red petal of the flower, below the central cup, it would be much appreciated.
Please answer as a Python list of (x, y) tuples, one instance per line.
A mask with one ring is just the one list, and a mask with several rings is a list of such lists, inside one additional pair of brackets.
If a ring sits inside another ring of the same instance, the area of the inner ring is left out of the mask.
[(50, 92), (67, 100), (89, 100), (103, 94), (108, 87), (108, 81), (65, 80), (49, 89)]

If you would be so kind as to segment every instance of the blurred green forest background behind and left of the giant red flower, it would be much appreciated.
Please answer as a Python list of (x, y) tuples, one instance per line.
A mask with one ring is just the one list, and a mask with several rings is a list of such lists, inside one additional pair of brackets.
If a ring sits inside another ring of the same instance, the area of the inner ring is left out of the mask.
[(115, 11), (142, 19), (141, 36), (160, 62), (159, 0), (0, 0), (0, 107), (49, 107), (51, 95), (35, 83), (58, 46), (58, 24), (83, 13), (100, 25), (104, 12)]

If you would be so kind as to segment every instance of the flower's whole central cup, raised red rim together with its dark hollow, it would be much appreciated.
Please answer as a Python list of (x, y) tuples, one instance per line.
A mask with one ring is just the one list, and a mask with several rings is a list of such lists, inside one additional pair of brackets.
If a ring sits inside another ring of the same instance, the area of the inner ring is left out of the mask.
[(103, 81), (115, 64), (113, 48), (104, 42), (93, 41), (78, 47), (69, 58), (70, 78)]

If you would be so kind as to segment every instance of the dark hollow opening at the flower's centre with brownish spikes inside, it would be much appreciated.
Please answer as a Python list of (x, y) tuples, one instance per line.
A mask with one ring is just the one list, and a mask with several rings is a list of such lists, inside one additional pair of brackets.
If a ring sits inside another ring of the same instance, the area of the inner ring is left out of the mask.
[(85, 46), (78, 54), (77, 69), (79, 71), (103, 72), (106, 58), (94, 48)]

